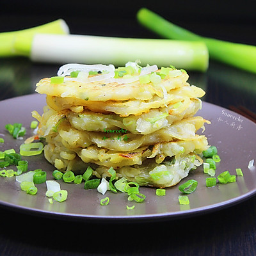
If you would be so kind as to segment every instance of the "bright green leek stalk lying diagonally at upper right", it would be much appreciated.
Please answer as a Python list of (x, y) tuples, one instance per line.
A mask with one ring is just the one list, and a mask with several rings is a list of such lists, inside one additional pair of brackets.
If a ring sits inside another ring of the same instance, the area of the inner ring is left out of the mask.
[(137, 18), (143, 26), (164, 38), (205, 42), (210, 58), (256, 73), (256, 47), (254, 45), (236, 44), (196, 35), (172, 24), (147, 8), (141, 8), (137, 13)]

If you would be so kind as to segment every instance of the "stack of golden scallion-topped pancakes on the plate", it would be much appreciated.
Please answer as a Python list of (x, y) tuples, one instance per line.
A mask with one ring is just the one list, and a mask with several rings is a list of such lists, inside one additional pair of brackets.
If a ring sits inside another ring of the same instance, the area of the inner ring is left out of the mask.
[(185, 70), (136, 62), (63, 65), (57, 77), (36, 84), (47, 95), (38, 134), (45, 158), (61, 172), (125, 177), (140, 186), (170, 187), (202, 164), (209, 146), (196, 134), (209, 123), (195, 116), (204, 90), (187, 83)]

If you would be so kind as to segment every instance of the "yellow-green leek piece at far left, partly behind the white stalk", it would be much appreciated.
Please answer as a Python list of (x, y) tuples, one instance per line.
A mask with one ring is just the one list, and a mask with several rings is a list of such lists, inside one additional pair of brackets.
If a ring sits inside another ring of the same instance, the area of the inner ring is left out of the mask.
[(35, 33), (67, 34), (64, 20), (58, 19), (35, 28), (0, 33), (0, 57), (25, 55), (30, 52)]

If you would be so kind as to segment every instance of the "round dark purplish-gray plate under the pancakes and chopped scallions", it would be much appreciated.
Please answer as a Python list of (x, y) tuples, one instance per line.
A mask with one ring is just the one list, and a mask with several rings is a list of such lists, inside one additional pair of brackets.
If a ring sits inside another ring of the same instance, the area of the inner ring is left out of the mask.
[[(20, 140), (14, 140), (4, 125), (13, 122), (21, 122), (27, 127), (27, 135), (31, 135), (29, 128), (31, 111), (37, 110), (42, 113), (45, 106), (44, 95), (27, 95), (0, 102), (0, 137), (4, 138), (4, 144), (0, 150), (15, 148), (19, 152)], [(27, 195), (20, 190), (15, 182), (15, 177), (0, 177), (0, 204), (15, 210), (23, 210), (32, 214), (44, 214), (54, 218), (68, 218), (75, 220), (163, 220), (164, 218), (180, 218), (200, 214), (207, 211), (221, 209), (223, 207), (237, 204), (256, 192), (256, 170), (248, 169), (248, 163), (256, 158), (256, 125), (250, 120), (224, 108), (203, 102), (203, 109), (198, 113), (205, 119), (211, 121), (211, 125), (205, 125), (204, 134), (209, 138), (211, 145), (218, 147), (221, 162), (218, 164), (216, 175), (229, 170), (236, 174), (236, 168), (242, 168), (244, 176), (237, 177), (237, 182), (220, 184), (214, 188), (205, 186), (205, 178), (202, 167), (191, 172), (189, 177), (182, 180), (180, 184), (189, 179), (198, 180), (198, 188), (189, 195), (189, 205), (179, 205), (180, 195), (178, 186), (166, 189), (166, 196), (156, 196), (154, 188), (140, 188), (147, 198), (143, 203), (134, 203), (127, 200), (124, 193), (113, 194), (108, 191), (101, 195), (96, 189), (85, 190), (83, 184), (67, 184), (60, 182), (61, 189), (67, 189), (68, 199), (65, 202), (54, 202), (49, 204), (45, 196), (45, 184), (39, 184), (38, 194)], [(47, 172), (48, 179), (52, 179), (53, 166), (49, 164), (44, 156), (23, 157), (28, 159), (29, 170), (42, 168)], [(256, 160), (256, 159), (255, 159)], [(100, 199), (109, 196), (108, 205), (99, 204)], [(132, 210), (127, 210), (126, 205), (135, 205)]]

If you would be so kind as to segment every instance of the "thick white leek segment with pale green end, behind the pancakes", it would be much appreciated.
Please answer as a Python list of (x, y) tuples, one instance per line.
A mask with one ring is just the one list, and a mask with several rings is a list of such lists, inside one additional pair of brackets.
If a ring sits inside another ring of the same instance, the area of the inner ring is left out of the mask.
[(131, 60), (205, 71), (209, 54), (203, 42), (168, 39), (118, 38), (85, 35), (38, 34), (33, 39), (31, 60), (51, 63), (113, 63), (122, 67)]

